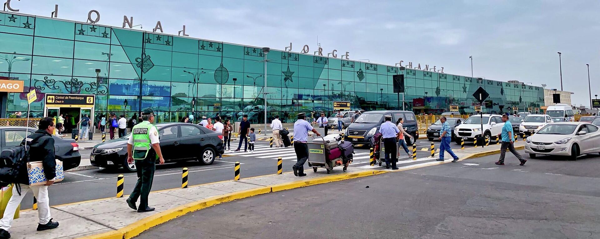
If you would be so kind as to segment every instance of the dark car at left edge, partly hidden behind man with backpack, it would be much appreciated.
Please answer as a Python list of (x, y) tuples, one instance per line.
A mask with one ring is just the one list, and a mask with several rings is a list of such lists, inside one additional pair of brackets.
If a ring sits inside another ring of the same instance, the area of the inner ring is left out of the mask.
[[(26, 132), (28, 131), (28, 133)], [(20, 126), (4, 126), (0, 127), (0, 151), (18, 146), (25, 135), (33, 134), (37, 129), (20, 127)], [(54, 138), (54, 150), (56, 159), (62, 161), (62, 167), (65, 171), (71, 168), (79, 167), (81, 155), (79, 154), (79, 144), (71, 138), (61, 138), (52, 135)]]

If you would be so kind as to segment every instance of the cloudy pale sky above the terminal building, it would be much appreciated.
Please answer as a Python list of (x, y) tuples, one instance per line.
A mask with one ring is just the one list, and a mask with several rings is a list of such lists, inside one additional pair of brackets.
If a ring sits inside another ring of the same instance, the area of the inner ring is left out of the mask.
[[(394, 65), (404, 60), (445, 68), (444, 72), (519, 80), (560, 89), (573, 103), (589, 105), (600, 95), (600, 1), (227, 1), (227, 0), (13, 0), (20, 13), (85, 22), (89, 10), (99, 24), (121, 26), (123, 15), (151, 31), (160, 20), (165, 33), (186, 25), (190, 37), (293, 52), (304, 44), (325, 52), (350, 52), (350, 59)], [(342, 53), (343, 54), (343, 53)], [(342, 54), (338, 54), (342, 55)]]

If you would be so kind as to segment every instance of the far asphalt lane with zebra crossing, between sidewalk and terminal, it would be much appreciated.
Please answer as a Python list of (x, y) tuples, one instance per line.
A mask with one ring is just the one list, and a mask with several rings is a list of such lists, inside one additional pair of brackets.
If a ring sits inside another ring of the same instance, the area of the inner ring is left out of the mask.
[[(236, 142), (237, 143), (237, 142)], [(434, 142), (436, 148), (439, 147), (439, 141)], [(426, 158), (430, 156), (429, 152), (420, 151), (422, 148), (429, 148), (431, 142), (427, 140), (418, 140), (417, 158)], [(237, 144), (232, 142), (235, 149)], [(456, 147), (455, 144), (452, 144)], [(243, 146), (242, 146), (243, 147)], [(283, 170), (292, 171), (292, 165), (295, 164), (295, 153), (293, 147), (268, 148), (265, 141), (257, 142), (257, 152), (251, 153), (231, 153), (232, 156), (224, 157), (223, 161), (215, 160), (212, 165), (202, 165), (199, 162), (179, 162), (174, 164), (157, 165), (157, 170), (152, 184), (152, 190), (173, 189), (181, 187), (181, 170), (184, 167), (189, 169), (188, 184), (197, 185), (211, 183), (215, 181), (233, 179), (233, 167), (235, 162), (240, 162), (241, 177), (254, 177), (266, 174), (277, 173), (277, 157), (283, 157)], [(468, 146), (471, 147), (471, 146)], [(82, 159), (89, 159), (90, 150), (81, 150)], [(355, 161), (350, 167), (361, 167), (368, 165), (369, 149), (365, 146), (355, 147)], [(419, 161), (424, 162), (424, 161)], [(307, 170), (310, 170), (308, 168)], [(341, 168), (334, 168), (341, 170)], [(88, 201), (92, 199), (109, 198), (116, 195), (116, 177), (119, 174), (125, 176), (125, 195), (128, 195), (137, 181), (136, 173), (127, 173), (124, 170), (82, 170), (65, 173), (65, 179), (49, 189), (50, 205), (61, 205), (71, 202)], [(21, 208), (31, 208), (33, 196), (25, 196)]]

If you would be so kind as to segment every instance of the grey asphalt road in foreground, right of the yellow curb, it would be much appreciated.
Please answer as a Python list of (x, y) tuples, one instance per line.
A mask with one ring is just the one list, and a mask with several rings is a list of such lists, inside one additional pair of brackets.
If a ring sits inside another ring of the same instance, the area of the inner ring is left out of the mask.
[(600, 238), (598, 155), (497, 158), (254, 196), (137, 238)]

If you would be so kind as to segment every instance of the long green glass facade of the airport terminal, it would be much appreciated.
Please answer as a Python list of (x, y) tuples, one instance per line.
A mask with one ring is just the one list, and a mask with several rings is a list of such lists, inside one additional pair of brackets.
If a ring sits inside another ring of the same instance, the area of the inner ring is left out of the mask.
[[(479, 86), (490, 93), (485, 112), (544, 104), (543, 89), (536, 86), (274, 49), (266, 58), (264, 87), (261, 47), (0, 12), (0, 78), (25, 81), (25, 92), (94, 94), (96, 113), (131, 116), (152, 107), (163, 122), (192, 110), (238, 120), (244, 111), (251, 122), (263, 122), (263, 92), (268, 117), (284, 120), (332, 111), (332, 101), (397, 109), (395, 74), (405, 75), (404, 106), (416, 113), (448, 111), (451, 104), (472, 113), (470, 95)], [(5, 97), (4, 116), (26, 111), (25, 93)], [(43, 103), (40, 94), (31, 105), (34, 116), (43, 115)]]

